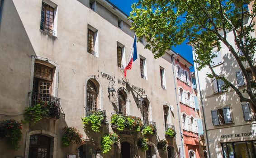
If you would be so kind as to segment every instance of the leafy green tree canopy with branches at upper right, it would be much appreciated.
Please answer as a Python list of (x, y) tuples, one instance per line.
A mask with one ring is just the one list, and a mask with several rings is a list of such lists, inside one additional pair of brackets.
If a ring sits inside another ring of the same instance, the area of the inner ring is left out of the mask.
[[(254, 0), (139, 0), (132, 5), (130, 19), (133, 20), (132, 29), (137, 37), (146, 37), (146, 48), (152, 50), (154, 57), (162, 56), (166, 50), (189, 40), (196, 52), (195, 62), (198, 70), (209, 66), (210, 78), (222, 79), (223, 88), (233, 88), (241, 102), (250, 102), (256, 106), (255, 81), (251, 80), (247, 69), (254, 78), (256, 70), (254, 31), (256, 5), (248, 10), (248, 5)], [(245, 23), (245, 21), (249, 21)], [(232, 33), (233, 41), (228, 40), (227, 34)], [(232, 43), (235, 42), (235, 45)], [(213, 46), (221, 49), (221, 43), (227, 46), (232, 56), (237, 60), (247, 87), (241, 92), (227, 76), (220, 76), (211, 66)], [(242, 51), (243, 56), (238, 52)], [(247, 66), (245, 66), (247, 65)], [(248, 95), (245, 95), (247, 93)]]

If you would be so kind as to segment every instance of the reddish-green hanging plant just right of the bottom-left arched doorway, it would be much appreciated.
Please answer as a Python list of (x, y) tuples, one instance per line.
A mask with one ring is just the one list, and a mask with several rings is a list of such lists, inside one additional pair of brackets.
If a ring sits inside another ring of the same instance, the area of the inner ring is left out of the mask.
[(71, 143), (84, 144), (83, 135), (75, 127), (64, 127), (62, 130), (62, 147), (68, 147)]

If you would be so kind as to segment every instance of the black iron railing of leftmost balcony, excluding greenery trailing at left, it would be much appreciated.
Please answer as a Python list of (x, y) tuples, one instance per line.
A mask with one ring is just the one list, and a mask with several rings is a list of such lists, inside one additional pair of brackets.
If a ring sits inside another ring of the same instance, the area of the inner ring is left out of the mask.
[(40, 104), (47, 112), (47, 118), (59, 119), (61, 113), (63, 113), (65, 118), (60, 98), (49, 96), (49, 94), (29, 92), (29, 103), (30, 106)]

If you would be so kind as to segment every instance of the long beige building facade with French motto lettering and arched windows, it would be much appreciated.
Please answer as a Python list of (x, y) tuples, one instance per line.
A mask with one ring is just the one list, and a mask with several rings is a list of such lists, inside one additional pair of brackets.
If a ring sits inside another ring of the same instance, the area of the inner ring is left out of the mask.
[[(179, 157), (183, 131), (175, 106), (173, 51), (155, 60), (144, 49), (146, 40), (140, 39), (138, 59), (124, 79), (134, 32), (127, 15), (109, 1), (1, 0), (0, 8), (0, 120), (23, 120), (25, 109), (38, 100), (54, 102), (59, 112), (55, 119), (23, 123), (18, 150), (10, 149), (8, 138), (1, 138), (1, 158), (34, 158), (39, 153), (40, 158)], [(107, 116), (100, 132), (81, 121), (91, 108)], [(118, 112), (155, 124), (157, 134), (117, 131), (110, 122)], [(62, 147), (65, 126), (78, 129), (85, 144)], [(175, 128), (175, 138), (165, 135), (166, 126)], [(119, 134), (120, 142), (103, 154), (100, 141), (109, 132)], [(144, 137), (150, 141), (147, 152), (137, 148), (137, 140)], [(166, 152), (157, 149), (160, 140), (169, 142)]]

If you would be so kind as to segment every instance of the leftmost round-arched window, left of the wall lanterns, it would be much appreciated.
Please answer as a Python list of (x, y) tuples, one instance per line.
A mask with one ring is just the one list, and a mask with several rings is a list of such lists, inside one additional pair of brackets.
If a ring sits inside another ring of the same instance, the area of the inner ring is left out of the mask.
[(87, 107), (97, 108), (98, 90), (94, 82), (91, 80), (88, 80), (87, 82), (86, 93), (87, 93)]

